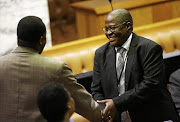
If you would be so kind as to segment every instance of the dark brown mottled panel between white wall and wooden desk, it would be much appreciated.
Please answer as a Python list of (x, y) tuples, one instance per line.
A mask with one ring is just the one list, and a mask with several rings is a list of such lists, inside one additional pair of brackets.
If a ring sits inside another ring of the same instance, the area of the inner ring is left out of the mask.
[(75, 11), (70, 4), (85, 0), (48, 0), (52, 44), (78, 39)]

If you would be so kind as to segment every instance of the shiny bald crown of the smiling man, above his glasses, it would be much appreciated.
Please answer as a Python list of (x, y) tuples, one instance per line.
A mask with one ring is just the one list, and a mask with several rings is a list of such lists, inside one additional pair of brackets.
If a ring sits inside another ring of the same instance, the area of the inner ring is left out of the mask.
[(120, 23), (122, 22), (130, 22), (131, 25), (133, 25), (132, 16), (126, 9), (115, 9), (108, 13), (106, 18), (111, 17), (113, 20), (118, 21)]

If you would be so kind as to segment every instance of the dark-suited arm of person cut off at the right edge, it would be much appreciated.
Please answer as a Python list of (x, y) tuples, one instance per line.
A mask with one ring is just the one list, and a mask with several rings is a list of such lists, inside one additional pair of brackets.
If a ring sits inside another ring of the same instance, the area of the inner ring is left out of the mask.
[(169, 91), (180, 116), (180, 69), (170, 75), (169, 83)]

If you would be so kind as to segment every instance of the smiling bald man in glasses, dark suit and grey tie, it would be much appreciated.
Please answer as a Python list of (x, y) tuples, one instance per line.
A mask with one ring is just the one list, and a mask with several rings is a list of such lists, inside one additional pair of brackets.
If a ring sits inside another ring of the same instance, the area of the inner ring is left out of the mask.
[(161, 46), (132, 32), (125, 9), (108, 13), (103, 31), (109, 42), (95, 52), (91, 90), (101, 108), (106, 105), (104, 116), (114, 122), (128, 121), (129, 115), (132, 122), (180, 122), (167, 89)]

